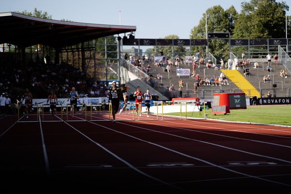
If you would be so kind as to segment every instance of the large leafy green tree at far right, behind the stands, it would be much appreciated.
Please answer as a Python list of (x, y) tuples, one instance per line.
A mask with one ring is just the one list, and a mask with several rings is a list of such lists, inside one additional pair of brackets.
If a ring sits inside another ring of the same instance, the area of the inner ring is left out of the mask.
[(285, 11), (288, 10), (289, 6), (284, 1), (242, 2), (233, 38), (285, 38)]

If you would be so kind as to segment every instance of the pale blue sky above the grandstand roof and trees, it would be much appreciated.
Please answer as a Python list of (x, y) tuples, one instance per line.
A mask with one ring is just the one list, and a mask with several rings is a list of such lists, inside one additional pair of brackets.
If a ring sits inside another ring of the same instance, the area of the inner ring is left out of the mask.
[[(53, 19), (76, 22), (136, 26), (136, 38), (163, 38), (176, 34), (189, 38), (191, 29), (198, 25), (202, 14), (220, 4), (231, 5), (240, 12), (241, 2), (249, 0), (1, 0), (0, 13), (33, 12), (34, 8), (47, 11)], [(277, 0), (281, 2), (281, 0)], [(291, 9), (291, 0), (285, 0)], [(291, 15), (289, 10), (287, 13)], [(285, 26), (282, 26), (285, 28)]]

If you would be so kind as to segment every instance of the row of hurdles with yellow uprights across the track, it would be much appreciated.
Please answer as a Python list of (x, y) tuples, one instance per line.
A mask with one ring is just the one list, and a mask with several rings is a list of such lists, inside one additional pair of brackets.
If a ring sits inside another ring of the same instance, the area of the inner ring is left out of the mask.
[[(122, 112), (120, 109), (126, 107)], [(76, 106), (76, 105), (75, 105)], [(148, 108), (149, 107), (149, 108)], [(51, 104), (26, 104), (17, 105), (18, 122), (63, 122), (63, 121), (110, 121), (113, 120), (114, 106), (112, 103), (90, 103), (78, 104), (76, 112), (71, 105), (56, 105), (54, 111)], [(154, 102), (121, 102), (117, 113), (116, 121), (134, 120), (173, 120), (191, 119), (193, 112), (202, 110), (205, 115), (205, 103), (154, 101)], [(149, 113), (147, 113), (149, 109)], [(27, 111), (28, 110), (28, 114)], [(189, 117), (189, 114), (192, 115)], [(187, 116), (188, 114), (188, 116)], [(195, 116), (195, 115), (194, 115)], [(205, 117), (204, 117), (205, 118)]]

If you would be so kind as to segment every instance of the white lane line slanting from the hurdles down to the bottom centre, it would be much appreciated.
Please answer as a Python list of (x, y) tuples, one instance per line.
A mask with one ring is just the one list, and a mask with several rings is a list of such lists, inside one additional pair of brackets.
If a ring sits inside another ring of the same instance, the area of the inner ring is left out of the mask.
[[(68, 126), (70, 126), (72, 129), (74, 129), (74, 130), (76, 130), (77, 132), (79, 132), (82, 136), (84, 136), (85, 138), (87, 138), (88, 140), (90, 140), (92, 143), (94, 143), (95, 145), (99, 146), (100, 148), (102, 148), (103, 150), (105, 150), (106, 152), (108, 152), (109, 154), (111, 154), (113, 157), (115, 157), (115, 158), (118, 159), (119, 161), (125, 163), (127, 166), (129, 166), (129, 167), (130, 167), (131, 169), (133, 169), (134, 171), (136, 171), (136, 172), (138, 172), (138, 173), (140, 173), (140, 174), (142, 174), (142, 175), (144, 175), (144, 176), (146, 176), (146, 177), (148, 177), (148, 178), (151, 178), (151, 179), (153, 179), (153, 180), (156, 180), (156, 181), (158, 181), (158, 182), (160, 182), (160, 183), (162, 183), (162, 184), (164, 184), (164, 185), (167, 185), (167, 186), (170, 186), (170, 187), (176, 188), (176, 189), (178, 189), (178, 190), (183, 190), (183, 189), (181, 189), (181, 188), (179, 188), (179, 187), (176, 187), (176, 186), (174, 186), (174, 185), (171, 185), (171, 184), (169, 184), (169, 183), (167, 183), (167, 182), (165, 182), (165, 181), (163, 181), (163, 180), (161, 180), (161, 179), (158, 179), (158, 178), (155, 178), (155, 177), (152, 177), (152, 176), (146, 174), (145, 172), (139, 170), (138, 168), (136, 168), (135, 166), (133, 166), (133, 165), (130, 164), (129, 162), (123, 160), (122, 158), (120, 158), (119, 156), (117, 156), (116, 154), (114, 154), (112, 151), (110, 151), (110, 150), (107, 149), (106, 147), (104, 147), (104, 146), (100, 145), (99, 143), (95, 142), (93, 139), (91, 139), (90, 137), (88, 137), (87, 135), (85, 135), (84, 133), (82, 133), (80, 130), (74, 128), (73, 126), (71, 126), (70, 124), (68, 124), (66, 121), (64, 121), (64, 122), (65, 122), (65, 124), (67, 124)], [(90, 122), (90, 121), (89, 121), (89, 122)]]

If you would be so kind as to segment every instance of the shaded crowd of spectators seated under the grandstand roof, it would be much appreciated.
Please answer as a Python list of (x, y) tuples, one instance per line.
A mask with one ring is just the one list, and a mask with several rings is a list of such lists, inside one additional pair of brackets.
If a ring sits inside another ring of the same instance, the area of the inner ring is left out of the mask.
[(16, 63), (1, 68), (0, 92), (11, 96), (13, 102), (20, 99), (25, 88), (30, 89), (33, 98), (46, 98), (51, 89), (57, 97), (67, 97), (72, 87), (76, 88), (80, 97), (85, 94), (88, 97), (104, 97), (108, 89), (65, 63), (48, 65), (30, 62), (26, 66)]

